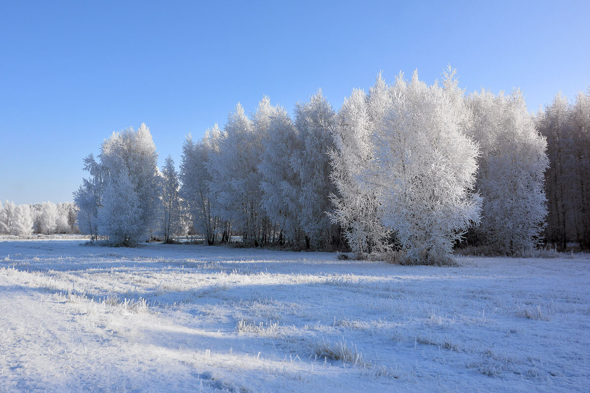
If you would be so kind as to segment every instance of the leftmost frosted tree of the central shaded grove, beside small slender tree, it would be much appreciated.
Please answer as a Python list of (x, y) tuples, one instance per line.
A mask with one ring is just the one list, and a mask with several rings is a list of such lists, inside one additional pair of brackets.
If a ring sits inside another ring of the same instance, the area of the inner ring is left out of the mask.
[(214, 158), (219, 152), (220, 134), (215, 124), (200, 141), (195, 143), (188, 135), (182, 145), (181, 196), (188, 207), (194, 229), (205, 236), (209, 246), (217, 240), (220, 219), (215, 213), (215, 199), (209, 198), (212, 179), (207, 168), (209, 158)]

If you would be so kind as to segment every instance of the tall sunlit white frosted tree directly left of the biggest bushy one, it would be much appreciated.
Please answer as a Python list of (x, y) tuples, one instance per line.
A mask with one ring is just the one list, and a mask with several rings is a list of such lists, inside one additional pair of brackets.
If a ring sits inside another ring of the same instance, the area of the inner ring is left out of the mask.
[(372, 133), (382, 120), (388, 88), (378, 75), (371, 94), (353, 90), (340, 108), (333, 130), (335, 149), (330, 150), (331, 179), (339, 197), (332, 196), (332, 220), (339, 222), (353, 252), (386, 252), (391, 231), (379, 219), (376, 193), (360, 183), (360, 174), (371, 168)]

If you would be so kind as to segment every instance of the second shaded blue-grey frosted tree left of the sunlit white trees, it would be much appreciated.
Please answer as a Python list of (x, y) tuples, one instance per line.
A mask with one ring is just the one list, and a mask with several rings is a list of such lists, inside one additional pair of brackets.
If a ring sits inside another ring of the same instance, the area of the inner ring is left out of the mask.
[(297, 244), (301, 240), (298, 221), (301, 180), (291, 169), (288, 159), (299, 148), (293, 121), (286, 110), (277, 108), (277, 113), (270, 116), (268, 138), (264, 141), (258, 170), (263, 191), (261, 206), (278, 229), (278, 242), (281, 244)]

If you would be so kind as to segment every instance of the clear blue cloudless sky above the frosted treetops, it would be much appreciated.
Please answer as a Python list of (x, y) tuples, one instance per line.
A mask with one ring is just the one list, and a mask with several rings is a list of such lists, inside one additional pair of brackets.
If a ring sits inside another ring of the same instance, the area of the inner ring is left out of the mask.
[[(267, 94), (335, 108), (379, 70), (469, 91), (521, 88), (530, 110), (590, 85), (590, 1), (0, 0), (0, 199), (71, 200), (81, 159), (145, 122), (163, 159)], [(409, 75), (408, 75), (409, 76)]]

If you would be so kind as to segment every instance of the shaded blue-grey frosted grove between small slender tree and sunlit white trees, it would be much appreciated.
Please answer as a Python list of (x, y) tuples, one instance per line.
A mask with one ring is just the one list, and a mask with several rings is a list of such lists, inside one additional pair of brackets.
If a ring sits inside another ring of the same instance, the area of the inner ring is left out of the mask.
[(336, 113), (318, 91), (294, 114), (264, 97), (251, 116), (238, 104), (223, 130), (186, 138), (181, 196), (209, 244), (236, 234), (253, 246), (343, 247), (340, 225), (326, 214), (336, 191), (326, 154)]

